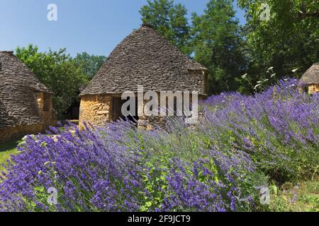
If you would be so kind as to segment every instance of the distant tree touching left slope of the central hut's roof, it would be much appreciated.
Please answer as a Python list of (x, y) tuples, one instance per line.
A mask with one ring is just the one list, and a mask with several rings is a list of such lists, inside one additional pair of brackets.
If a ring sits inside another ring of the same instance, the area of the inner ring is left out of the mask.
[(83, 73), (91, 80), (106, 61), (106, 57), (89, 55), (83, 52), (82, 54), (77, 54), (73, 61), (77, 67), (83, 69)]

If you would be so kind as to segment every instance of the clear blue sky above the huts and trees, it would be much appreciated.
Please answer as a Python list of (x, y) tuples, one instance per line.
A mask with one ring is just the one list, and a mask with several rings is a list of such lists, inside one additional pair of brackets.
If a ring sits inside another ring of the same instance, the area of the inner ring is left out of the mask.
[[(0, 51), (32, 43), (41, 51), (67, 48), (105, 55), (141, 24), (146, 0), (0, 0)], [(176, 0), (189, 11), (201, 14), (208, 0)], [(56, 4), (58, 20), (47, 20), (47, 5)], [(240, 23), (244, 12), (237, 8)]]

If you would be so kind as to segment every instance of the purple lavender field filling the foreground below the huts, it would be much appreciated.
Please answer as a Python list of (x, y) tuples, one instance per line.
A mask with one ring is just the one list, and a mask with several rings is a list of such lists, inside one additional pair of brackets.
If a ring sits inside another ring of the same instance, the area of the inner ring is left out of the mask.
[[(273, 211), (262, 188), (318, 186), (318, 104), (286, 79), (250, 96), (209, 97), (193, 127), (52, 128), (57, 136), (28, 136), (11, 157), (0, 210)], [(56, 204), (47, 202), (52, 187)]]

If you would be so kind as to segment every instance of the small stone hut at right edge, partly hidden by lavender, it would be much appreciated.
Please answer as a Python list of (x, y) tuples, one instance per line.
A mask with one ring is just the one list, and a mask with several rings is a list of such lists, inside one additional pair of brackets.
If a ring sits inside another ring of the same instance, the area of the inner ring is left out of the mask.
[(319, 63), (313, 64), (313, 66), (303, 74), (300, 79), (300, 85), (306, 85), (305, 88), (309, 94), (319, 92)]

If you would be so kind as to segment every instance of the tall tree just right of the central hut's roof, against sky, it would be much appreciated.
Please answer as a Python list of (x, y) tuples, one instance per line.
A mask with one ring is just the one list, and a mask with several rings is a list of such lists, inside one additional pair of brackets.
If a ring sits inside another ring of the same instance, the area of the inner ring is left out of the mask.
[(235, 78), (245, 69), (245, 57), (233, 1), (211, 0), (206, 7), (203, 15), (193, 13), (192, 16), (194, 59), (210, 71), (211, 94), (237, 90)]

